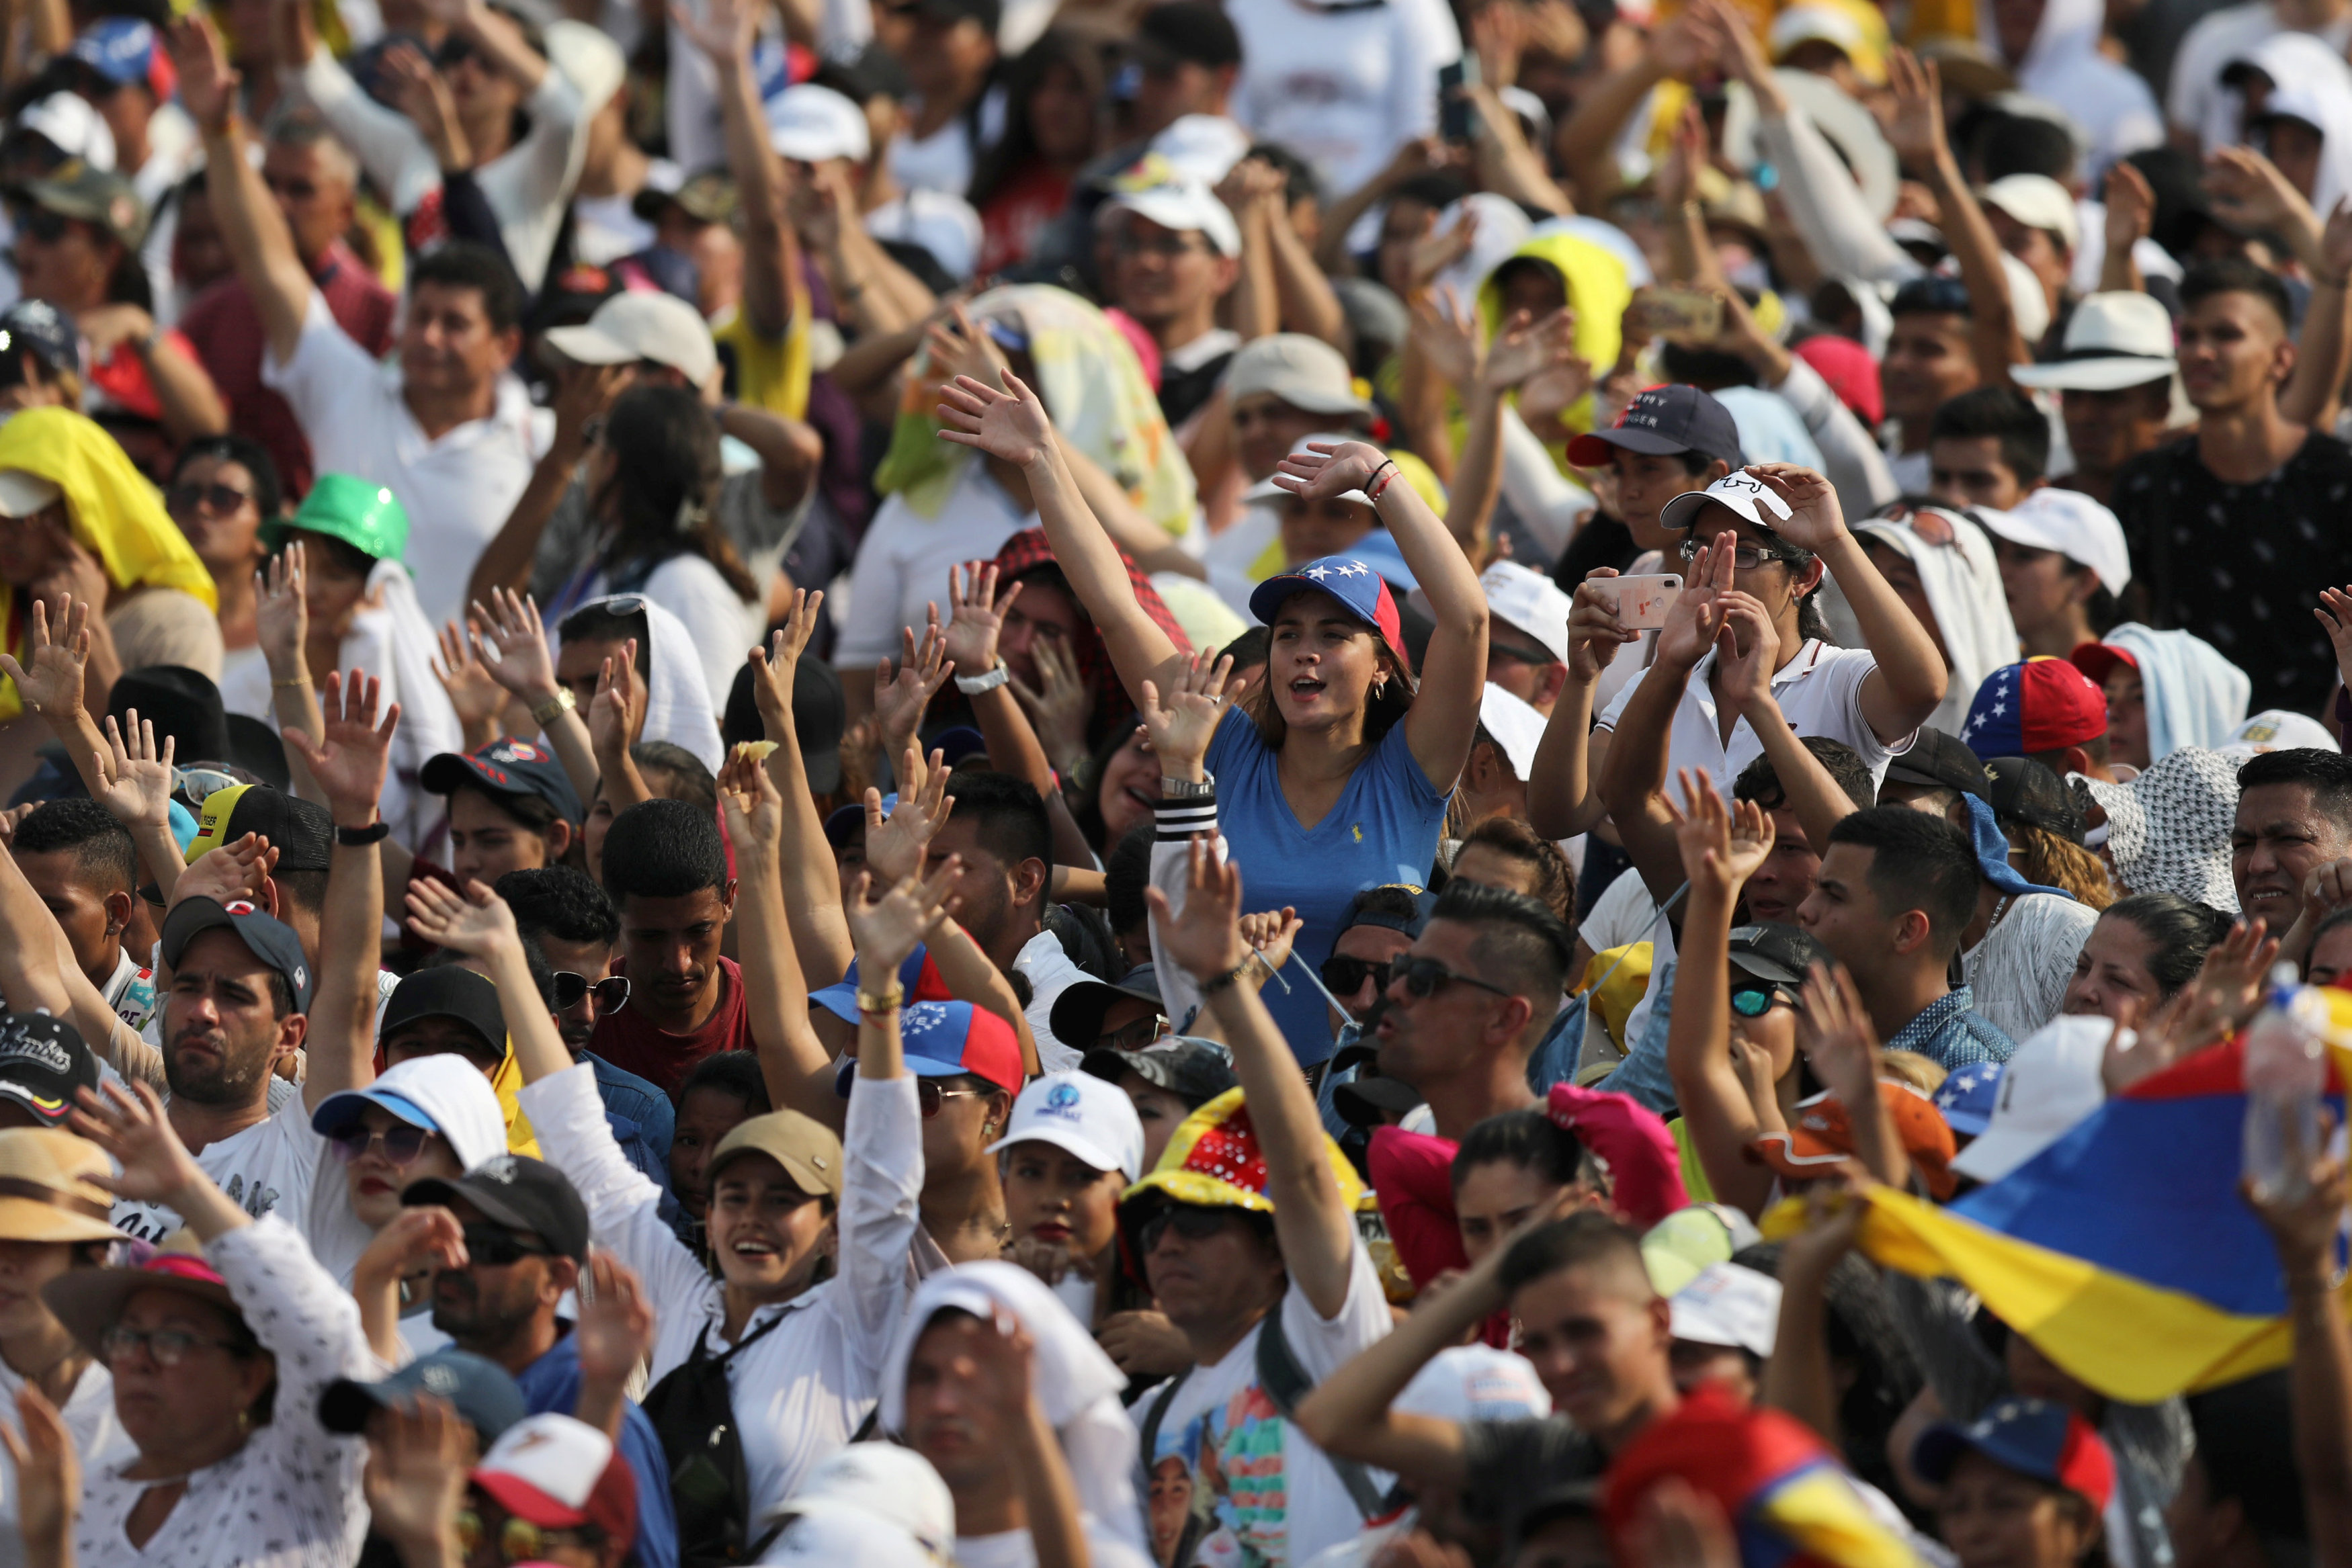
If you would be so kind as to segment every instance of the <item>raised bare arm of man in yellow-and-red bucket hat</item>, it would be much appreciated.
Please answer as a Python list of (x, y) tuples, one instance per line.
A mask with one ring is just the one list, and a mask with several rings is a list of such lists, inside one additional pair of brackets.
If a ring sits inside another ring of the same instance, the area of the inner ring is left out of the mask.
[[(1430, 520), (1435, 524), (1435, 517)], [(1237, 985), (1254, 961), (1242, 940), (1242, 867), (1218, 860), (1207, 835), (1192, 839), (1192, 882), (1183, 912), (1167, 893), (1145, 889), (1155, 936), (1167, 954), (1202, 987), (1209, 1013), (1225, 1030), (1232, 1070), (1242, 1079), (1249, 1124), (1265, 1152), (1265, 1194), (1275, 1201), (1275, 1239), (1291, 1284), (1322, 1319), (1348, 1305), (1355, 1274), (1355, 1215), (1331, 1171), (1331, 1147), (1315, 1095), (1298, 1077), (1282, 1030), (1254, 985)]]

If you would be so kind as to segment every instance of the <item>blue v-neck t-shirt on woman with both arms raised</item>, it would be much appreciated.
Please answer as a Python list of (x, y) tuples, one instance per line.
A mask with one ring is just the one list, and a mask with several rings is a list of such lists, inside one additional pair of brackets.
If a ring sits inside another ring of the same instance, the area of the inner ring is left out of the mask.
[[(1277, 755), (1258, 738), (1258, 726), (1240, 708), (1225, 712), (1209, 741), (1216, 776), (1216, 825), (1242, 867), (1242, 910), (1298, 910), (1305, 922), (1291, 947), (1294, 964), (1258, 992), (1282, 1025), (1301, 1067), (1331, 1056), (1331, 1018), (1319, 990), (1298, 971), (1322, 969), (1338, 938), (1348, 900), (1362, 889), (1390, 882), (1425, 886), (1437, 860), (1451, 790), (1439, 790), (1414, 762), (1404, 722), (1390, 726), (1371, 755), (1348, 776), (1338, 804), (1301, 827), (1282, 799)], [(1291, 990), (1282, 990), (1289, 980)]]

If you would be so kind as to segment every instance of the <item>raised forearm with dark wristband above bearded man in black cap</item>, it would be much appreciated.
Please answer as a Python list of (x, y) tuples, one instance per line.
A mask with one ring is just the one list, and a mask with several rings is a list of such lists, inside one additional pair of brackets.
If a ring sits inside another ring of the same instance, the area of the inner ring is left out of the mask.
[[(383, 705), (379, 722), (376, 710)], [(341, 672), (327, 677), (327, 710), (318, 741), (287, 731), (334, 813), (327, 860), (327, 910), (318, 933), (318, 997), (310, 1001), (303, 1105), (365, 1088), (376, 1077), (376, 954), (383, 914), (383, 858), (376, 846), (346, 844), (343, 835), (376, 825), (383, 773), (400, 729), (400, 703), (383, 703), (383, 682)], [(529, 976), (524, 976), (524, 983)], [(532, 997), (536, 997), (532, 987)]]

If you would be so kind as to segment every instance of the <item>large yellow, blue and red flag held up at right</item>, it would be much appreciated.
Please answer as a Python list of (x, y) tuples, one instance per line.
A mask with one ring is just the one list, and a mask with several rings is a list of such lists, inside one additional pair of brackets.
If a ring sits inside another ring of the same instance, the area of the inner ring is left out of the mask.
[[(2343, 1119), (2352, 994), (2328, 992), (2328, 1006), (2326, 1095)], [(1905, 1274), (1959, 1279), (2110, 1399), (2237, 1382), (2291, 1354), (2279, 1258), (2237, 1194), (2244, 1119), (2232, 1039), (2140, 1079), (1950, 1208), (1870, 1190), (1860, 1246)], [(1764, 1234), (1797, 1227), (1802, 1211), (1783, 1204)]]

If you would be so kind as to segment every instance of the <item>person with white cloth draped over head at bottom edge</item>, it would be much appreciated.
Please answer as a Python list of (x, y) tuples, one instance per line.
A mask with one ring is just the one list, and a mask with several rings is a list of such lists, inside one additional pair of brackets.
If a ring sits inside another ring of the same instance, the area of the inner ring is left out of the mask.
[[(1028, 1399), (1000, 1387), (1004, 1340), (1030, 1342)], [(967, 1262), (922, 1281), (882, 1366), (882, 1429), (927, 1458), (955, 1495), (955, 1561), (1014, 1561), (1040, 1528), (1018, 1422), (1030, 1410), (1061, 1439), (1077, 1526), (1098, 1568), (1143, 1568), (1136, 1425), (1120, 1403), (1127, 1373), (1014, 1262)], [(1035, 1556), (1028, 1561), (1037, 1561)]]

